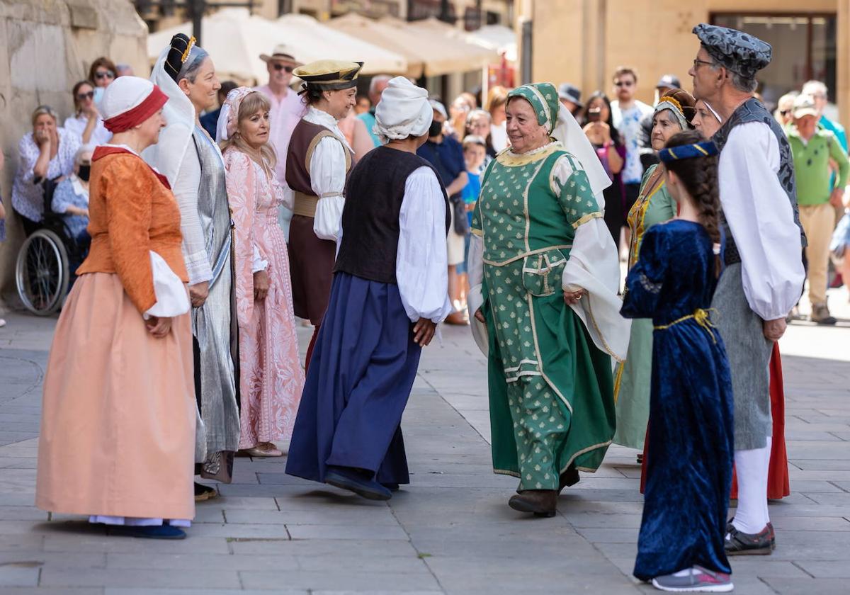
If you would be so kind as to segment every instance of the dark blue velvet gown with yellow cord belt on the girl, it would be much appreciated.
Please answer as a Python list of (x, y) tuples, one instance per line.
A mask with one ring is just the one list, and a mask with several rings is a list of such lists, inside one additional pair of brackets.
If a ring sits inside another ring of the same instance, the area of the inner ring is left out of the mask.
[(709, 309), (717, 286), (711, 246), (700, 224), (657, 224), (644, 235), (626, 279), (621, 313), (655, 325), (634, 570), (642, 581), (694, 565), (732, 572), (723, 550), (734, 453), (732, 382), (723, 339), (693, 316)]

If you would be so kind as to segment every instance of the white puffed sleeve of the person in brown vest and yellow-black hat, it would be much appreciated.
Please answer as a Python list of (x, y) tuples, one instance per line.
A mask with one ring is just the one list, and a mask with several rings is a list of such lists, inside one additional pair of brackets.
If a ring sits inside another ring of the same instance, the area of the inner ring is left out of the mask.
[(319, 197), (313, 231), (322, 240), (338, 239), (345, 207), (345, 173), (343, 144), (331, 137), (321, 139), (310, 157), (310, 187)]

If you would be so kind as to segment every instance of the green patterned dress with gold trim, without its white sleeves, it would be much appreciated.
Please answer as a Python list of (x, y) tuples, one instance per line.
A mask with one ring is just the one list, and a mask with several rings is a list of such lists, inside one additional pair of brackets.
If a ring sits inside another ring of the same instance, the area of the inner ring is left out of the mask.
[(473, 216), (484, 245), (493, 466), (519, 490), (595, 471), (615, 428), (611, 358), (561, 288), (575, 229), (601, 218), (581, 165), (558, 142), (490, 163)]

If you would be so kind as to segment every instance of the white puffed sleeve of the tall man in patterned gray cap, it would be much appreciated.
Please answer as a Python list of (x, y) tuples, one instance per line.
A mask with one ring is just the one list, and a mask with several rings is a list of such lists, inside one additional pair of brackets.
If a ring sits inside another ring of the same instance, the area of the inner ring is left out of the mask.
[(779, 184), (779, 142), (762, 122), (734, 127), (720, 153), (720, 202), (741, 257), (744, 294), (762, 320), (785, 318), (800, 298), (800, 228)]

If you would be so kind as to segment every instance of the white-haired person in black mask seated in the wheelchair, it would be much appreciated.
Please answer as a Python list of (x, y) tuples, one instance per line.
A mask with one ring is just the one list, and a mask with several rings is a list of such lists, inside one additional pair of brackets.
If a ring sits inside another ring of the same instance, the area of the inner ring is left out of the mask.
[[(53, 202), (50, 207), (65, 221), (65, 226), (74, 241), (77, 242), (79, 262), (71, 263), (71, 267), (82, 263), (88, 253), (91, 238), (88, 236), (88, 175), (92, 167), (92, 150), (83, 146), (74, 157), (74, 171), (65, 178), (54, 190)], [(72, 258), (77, 261), (77, 258)]]

